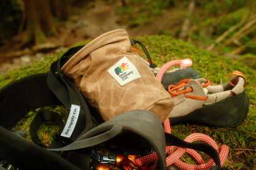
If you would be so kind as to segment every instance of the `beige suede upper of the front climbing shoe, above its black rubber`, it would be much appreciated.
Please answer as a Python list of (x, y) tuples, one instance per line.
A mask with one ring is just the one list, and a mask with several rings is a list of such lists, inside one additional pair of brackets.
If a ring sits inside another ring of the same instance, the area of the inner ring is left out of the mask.
[[(174, 93), (174, 95), (178, 93), (180, 95), (173, 96), (175, 106), (169, 117), (181, 117), (232, 95), (238, 95), (244, 91), (246, 80), (236, 75), (236, 77), (222, 85), (212, 86), (206, 85), (206, 83), (207, 79), (191, 79), (188, 80), (188, 83), (183, 83), (183, 86), (175, 91), (172, 91), (174, 88), (170, 88), (170, 93)], [(231, 85), (231, 83), (235, 84), (235, 86)], [(188, 92), (183, 93), (182, 91)]]

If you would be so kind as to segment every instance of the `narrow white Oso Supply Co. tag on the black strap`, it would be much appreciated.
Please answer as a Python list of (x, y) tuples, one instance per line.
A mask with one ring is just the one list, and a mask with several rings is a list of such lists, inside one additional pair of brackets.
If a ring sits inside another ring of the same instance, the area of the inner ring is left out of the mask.
[(80, 106), (71, 104), (70, 115), (68, 115), (68, 120), (66, 120), (66, 125), (62, 131), (60, 136), (70, 137), (74, 131), (74, 127), (76, 126), (76, 122), (78, 121), (78, 116), (80, 112)]

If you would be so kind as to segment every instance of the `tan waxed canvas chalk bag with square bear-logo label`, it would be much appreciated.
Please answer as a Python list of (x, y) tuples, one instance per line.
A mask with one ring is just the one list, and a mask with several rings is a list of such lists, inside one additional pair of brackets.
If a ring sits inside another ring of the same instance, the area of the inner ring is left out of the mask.
[(128, 110), (144, 109), (164, 122), (174, 107), (150, 68), (132, 53), (124, 29), (97, 37), (66, 61), (61, 71), (105, 121)]

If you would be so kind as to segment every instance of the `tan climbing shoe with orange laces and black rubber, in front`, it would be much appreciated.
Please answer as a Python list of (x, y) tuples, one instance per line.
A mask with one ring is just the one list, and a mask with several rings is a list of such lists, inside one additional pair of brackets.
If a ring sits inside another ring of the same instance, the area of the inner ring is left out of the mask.
[(184, 79), (168, 90), (175, 106), (169, 114), (170, 124), (232, 127), (247, 116), (249, 100), (244, 91), (246, 78), (239, 71), (222, 85), (212, 86), (207, 79)]

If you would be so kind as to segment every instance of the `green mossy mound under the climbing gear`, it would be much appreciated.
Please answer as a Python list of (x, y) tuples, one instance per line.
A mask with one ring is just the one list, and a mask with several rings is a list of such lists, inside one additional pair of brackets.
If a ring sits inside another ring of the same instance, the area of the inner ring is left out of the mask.
[[(205, 133), (212, 137), (218, 145), (228, 145), (230, 153), (225, 166), (230, 169), (254, 169), (256, 167), (256, 71), (244, 63), (225, 58), (215, 53), (207, 52), (196, 48), (183, 41), (172, 39), (170, 36), (145, 36), (132, 37), (143, 44), (148, 49), (151, 58), (159, 67), (170, 60), (190, 58), (193, 61), (192, 68), (199, 72), (201, 77), (206, 77), (215, 85), (228, 81), (228, 77), (233, 70), (244, 73), (247, 78), (246, 93), (249, 96), (250, 108), (246, 120), (242, 125), (234, 128), (210, 128), (198, 125), (177, 125), (172, 126), (172, 133), (185, 139), (191, 133)], [(82, 44), (87, 44), (89, 40)], [(79, 44), (81, 45), (81, 44)], [(136, 46), (140, 49), (140, 47)], [(141, 50), (141, 49), (140, 49)], [(0, 77), (0, 88), (14, 80), (26, 77), (31, 74), (38, 74), (49, 71), (50, 64), (57, 60), (64, 52), (57, 53), (55, 56), (47, 56), (44, 61), (38, 61), (31, 66), (15, 69), (7, 75)], [(38, 96), (39, 97), (39, 96)], [(65, 117), (65, 108), (57, 107)], [(210, 113), (206, 113), (210, 114)], [(30, 112), (25, 118), (17, 123), (17, 130), (28, 130), (30, 122), (35, 115)], [(53, 131), (58, 127), (49, 128), (49, 123), (39, 129), (39, 137), (42, 142), (49, 144)], [(26, 139), (30, 140), (30, 135), (26, 134)], [(192, 161), (184, 158), (185, 161)]]

